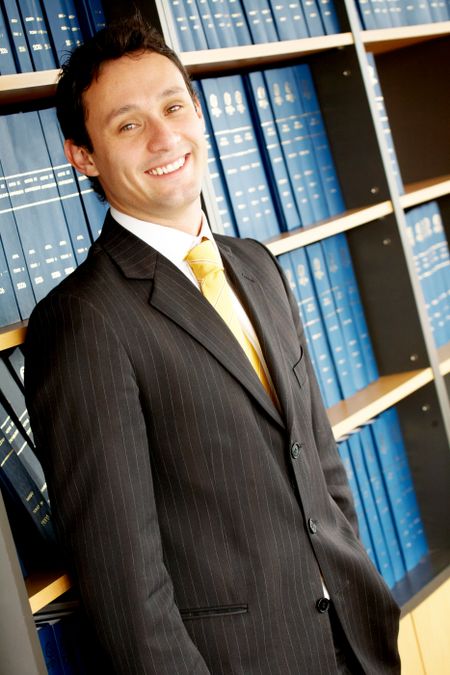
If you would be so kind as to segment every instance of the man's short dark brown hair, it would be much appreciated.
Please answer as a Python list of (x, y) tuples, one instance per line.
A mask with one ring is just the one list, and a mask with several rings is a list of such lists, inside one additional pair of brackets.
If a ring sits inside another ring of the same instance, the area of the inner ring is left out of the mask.
[[(155, 52), (170, 59), (183, 75), (186, 88), (195, 100), (189, 74), (177, 54), (166, 45), (162, 35), (140, 15), (117, 20), (77, 47), (62, 66), (56, 88), (56, 112), (65, 139), (92, 152), (92, 142), (86, 129), (83, 94), (99, 76), (106, 61), (139, 52)], [(90, 178), (90, 181), (94, 190), (105, 199), (98, 178)]]

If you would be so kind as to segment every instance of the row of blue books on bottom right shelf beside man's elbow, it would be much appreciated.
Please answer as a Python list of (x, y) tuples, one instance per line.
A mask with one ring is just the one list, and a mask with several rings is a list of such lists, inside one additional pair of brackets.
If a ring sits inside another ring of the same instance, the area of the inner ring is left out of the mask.
[(338, 443), (355, 501), (359, 536), (389, 587), (428, 552), (395, 408)]

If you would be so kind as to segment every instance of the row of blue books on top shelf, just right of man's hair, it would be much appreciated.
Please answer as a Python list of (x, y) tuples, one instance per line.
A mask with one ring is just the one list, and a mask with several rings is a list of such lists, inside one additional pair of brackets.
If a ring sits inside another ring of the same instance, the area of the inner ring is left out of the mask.
[(168, 5), (181, 51), (295, 40), (340, 30), (333, 0), (170, 0)]

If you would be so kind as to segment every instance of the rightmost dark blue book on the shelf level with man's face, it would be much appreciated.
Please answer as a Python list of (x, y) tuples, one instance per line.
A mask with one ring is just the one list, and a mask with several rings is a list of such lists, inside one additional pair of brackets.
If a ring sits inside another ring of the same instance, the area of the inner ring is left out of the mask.
[(306, 126), (309, 138), (312, 141), (328, 212), (330, 216), (335, 216), (345, 211), (345, 204), (331, 154), (328, 135), (320, 111), (319, 99), (314, 87), (311, 69), (306, 64), (296, 66), (295, 76), (299, 86)]

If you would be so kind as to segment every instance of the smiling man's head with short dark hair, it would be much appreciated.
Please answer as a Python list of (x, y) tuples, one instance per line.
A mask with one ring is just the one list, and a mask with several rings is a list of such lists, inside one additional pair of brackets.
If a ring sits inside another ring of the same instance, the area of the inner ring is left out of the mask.
[(199, 203), (201, 109), (177, 55), (141, 19), (115, 23), (72, 53), (57, 113), (69, 160), (111, 205), (163, 222), (175, 197), (180, 209), (183, 198)]

